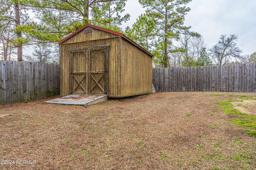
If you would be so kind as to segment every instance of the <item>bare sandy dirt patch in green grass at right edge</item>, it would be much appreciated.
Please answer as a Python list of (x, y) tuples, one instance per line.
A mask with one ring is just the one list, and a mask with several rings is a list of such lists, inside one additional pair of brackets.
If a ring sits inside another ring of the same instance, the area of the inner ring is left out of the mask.
[(256, 100), (236, 101), (232, 104), (235, 109), (242, 113), (256, 115)]

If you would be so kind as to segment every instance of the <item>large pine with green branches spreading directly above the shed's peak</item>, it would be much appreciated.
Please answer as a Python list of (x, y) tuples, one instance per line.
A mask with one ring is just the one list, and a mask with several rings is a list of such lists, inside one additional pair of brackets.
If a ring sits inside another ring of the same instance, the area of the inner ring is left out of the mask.
[[(49, 43), (61, 40), (69, 33), (83, 27), (85, 23), (96, 23), (97, 25), (104, 26), (115, 25), (119, 26), (119, 21), (126, 21), (130, 15), (125, 15), (124, 18), (119, 20), (119, 13), (123, 12), (125, 1), (118, 3), (117, 7), (111, 11), (110, 20), (103, 18), (106, 14), (107, 4), (113, 7), (115, 0), (35, 0), (30, 2), (30, 6), (36, 13), (37, 22), (32, 22), (23, 25), (22, 29), (26, 30), (28, 37), (34, 38), (34, 44)], [(119, 1), (118, 1), (119, 2)], [(94, 9), (95, 8), (95, 9)], [(89, 20), (89, 13), (91, 11), (94, 18), (94, 12), (105, 9), (101, 17), (97, 20)], [(116, 14), (114, 16), (114, 14)], [(110, 21), (109, 23), (107, 21)], [(108, 23), (108, 24), (107, 24)], [(116, 27), (117, 28), (117, 27)]]

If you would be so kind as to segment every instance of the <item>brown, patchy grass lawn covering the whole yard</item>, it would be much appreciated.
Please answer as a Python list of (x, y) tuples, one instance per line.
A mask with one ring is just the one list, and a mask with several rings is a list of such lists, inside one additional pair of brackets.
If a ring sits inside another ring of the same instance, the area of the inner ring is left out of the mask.
[[(0, 169), (256, 169), (254, 93), (0, 106)], [(2, 162), (1, 162), (2, 163)]]

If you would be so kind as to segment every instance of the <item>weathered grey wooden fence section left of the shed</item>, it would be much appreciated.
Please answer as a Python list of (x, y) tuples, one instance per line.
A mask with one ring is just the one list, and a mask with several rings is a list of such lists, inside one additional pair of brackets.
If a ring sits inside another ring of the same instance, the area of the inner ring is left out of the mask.
[(0, 104), (60, 94), (60, 66), (0, 61)]

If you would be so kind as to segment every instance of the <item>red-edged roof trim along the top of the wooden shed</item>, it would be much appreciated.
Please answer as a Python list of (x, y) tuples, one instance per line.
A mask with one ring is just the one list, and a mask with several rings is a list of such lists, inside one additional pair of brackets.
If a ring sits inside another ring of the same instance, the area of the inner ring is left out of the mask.
[(133, 45), (135, 45), (135, 46), (139, 47), (140, 49), (142, 49), (144, 52), (148, 53), (151, 57), (153, 57), (153, 55), (151, 53), (149, 53), (145, 48), (143, 48), (140, 45), (138, 45), (137, 43), (135, 43), (133, 40), (131, 40), (129, 37), (125, 36), (123, 33), (120, 33), (120, 32), (117, 32), (117, 31), (113, 31), (113, 30), (109, 30), (109, 29), (102, 28), (102, 27), (98, 27), (98, 26), (92, 25), (90, 23), (87, 23), (86, 25), (84, 25), (84, 27), (76, 30), (75, 32), (73, 32), (69, 36), (67, 36), (66, 38), (60, 40), (58, 44), (60, 45), (61, 43), (63, 43), (66, 40), (68, 40), (69, 38), (75, 36), (77, 33), (83, 31), (86, 27), (91, 27), (91, 28), (99, 29), (99, 30), (102, 30), (102, 31), (113, 33), (114, 35), (117, 35), (117, 36), (121, 36), (121, 37), (125, 38), (126, 40), (130, 41), (130, 43), (132, 43)]

